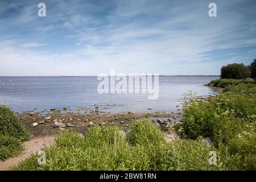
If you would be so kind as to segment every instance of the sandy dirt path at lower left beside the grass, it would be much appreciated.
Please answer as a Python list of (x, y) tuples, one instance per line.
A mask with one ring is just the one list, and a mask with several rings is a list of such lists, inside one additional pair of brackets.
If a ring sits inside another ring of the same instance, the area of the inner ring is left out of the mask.
[(8, 170), (10, 167), (15, 166), (24, 159), (27, 159), (31, 154), (35, 154), (44, 146), (49, 146), (54, 140), (53, 136), (32, 138), (29, 141), (23, 143), (24, 151), (22, 154), (0, 162), (0, 171)]

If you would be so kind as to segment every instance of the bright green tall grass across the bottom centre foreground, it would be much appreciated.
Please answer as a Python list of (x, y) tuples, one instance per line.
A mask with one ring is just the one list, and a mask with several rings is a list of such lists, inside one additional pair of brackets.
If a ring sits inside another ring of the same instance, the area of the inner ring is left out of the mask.
[[(146, 132), (143, 132), (146, 130)], [(155, 136), (155, 137), (154, 137)], [(38, 164), (38, 156), (12, 168), (13, 170), (220, 170), (208, 163), (209, 151), (201, 140), (166, 143), (163, 134), (150, 121), (137, 121), (127, 138), (115, 127), (95, 126), (85, 138), (64, 131), (55, 144), (43, 149), (46, 164)]]

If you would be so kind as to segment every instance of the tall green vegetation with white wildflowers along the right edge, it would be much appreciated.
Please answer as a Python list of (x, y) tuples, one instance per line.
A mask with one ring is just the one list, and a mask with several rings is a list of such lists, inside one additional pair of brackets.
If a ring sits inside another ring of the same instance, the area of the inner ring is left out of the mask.
[(213, 100), (187, 102), (176, 129), (183, 138), (212, 138), (226, 168), (255, 170), (256, 85), (228, 86)]

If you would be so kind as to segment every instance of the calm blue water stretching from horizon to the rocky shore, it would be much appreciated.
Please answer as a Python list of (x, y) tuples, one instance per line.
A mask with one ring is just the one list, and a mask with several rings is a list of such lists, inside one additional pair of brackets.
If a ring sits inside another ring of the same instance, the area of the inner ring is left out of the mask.
[(193, 90), (198, 96), (214, 94), (203, 86), (217, 77), (160, 76), (159, 98), (148, 100), (148, 94), (99, 94), (97, 77), (0, 77), (0, 104), (14, 111), (70, 109), (98, 105), (100, 110), (119, 111), (170, 111), (176, 110), (182, 94)]

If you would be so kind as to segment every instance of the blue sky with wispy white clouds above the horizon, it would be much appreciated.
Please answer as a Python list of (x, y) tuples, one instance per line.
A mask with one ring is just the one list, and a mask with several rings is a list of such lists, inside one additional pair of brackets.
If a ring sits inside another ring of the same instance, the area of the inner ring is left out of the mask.
[(255, 0), (0, 1), (0, 76), (220, 75), (255, 57)]

